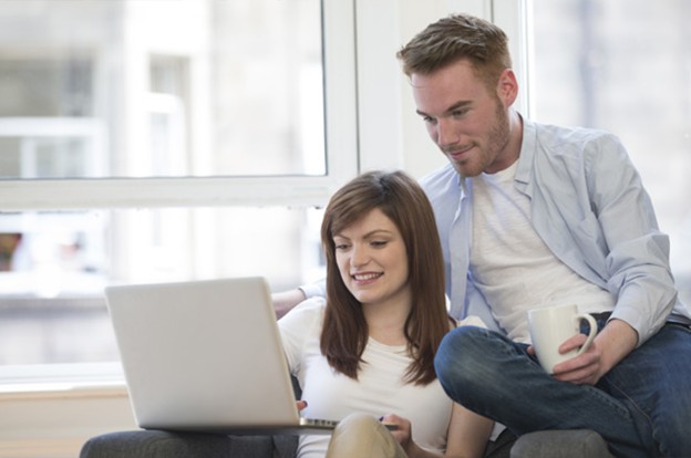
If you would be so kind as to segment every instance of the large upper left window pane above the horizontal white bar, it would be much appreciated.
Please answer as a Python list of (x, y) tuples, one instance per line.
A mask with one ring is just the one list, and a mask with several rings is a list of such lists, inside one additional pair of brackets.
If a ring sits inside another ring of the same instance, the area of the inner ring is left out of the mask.
[(324, 175), (320, 0), (3, 0), (0, 177)]

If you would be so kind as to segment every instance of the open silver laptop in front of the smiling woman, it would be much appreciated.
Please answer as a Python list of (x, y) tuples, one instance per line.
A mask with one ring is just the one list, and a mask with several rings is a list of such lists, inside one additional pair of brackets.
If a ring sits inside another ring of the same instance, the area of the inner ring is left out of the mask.
[(144, 429), (329, 434), (302, 418), (260, 277), (105, 289), (134, 417)]

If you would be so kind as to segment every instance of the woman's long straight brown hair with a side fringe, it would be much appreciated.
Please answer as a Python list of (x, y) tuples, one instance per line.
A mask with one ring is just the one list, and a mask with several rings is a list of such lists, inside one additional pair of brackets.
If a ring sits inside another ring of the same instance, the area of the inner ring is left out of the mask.
[(327, 310), (321, 352), (329, 364), (358, 378), (368, 343), (368, 325), (360, 302), (348, 291), (336, 262), (333, 236), (380, 209), (405, 243), (412, 309), (404, 334), (413, 362), (405, 382), (426, 385), (436, 378), (434, 354), (450, 330), (444, 296), (444, 260), (432, 206), (417, 183), (402, 171), (371, 171), (339, 189), (327, 206), (321, 242), (327, 258)]

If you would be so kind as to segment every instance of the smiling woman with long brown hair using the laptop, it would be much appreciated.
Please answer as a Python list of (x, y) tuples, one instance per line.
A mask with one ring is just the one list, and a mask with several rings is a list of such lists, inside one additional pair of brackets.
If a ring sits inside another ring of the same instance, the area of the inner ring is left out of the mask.
[(357, 177), (331, 198), (321, 240), (327, 300), (302, 302), (279, 326), (306, 415), (341, 423), (332, 438), (301, 437), (298, 456), (482, 456), (492, 421), (452, 403), (434, 373), (455, 323), (422, 189), (401, 171)]

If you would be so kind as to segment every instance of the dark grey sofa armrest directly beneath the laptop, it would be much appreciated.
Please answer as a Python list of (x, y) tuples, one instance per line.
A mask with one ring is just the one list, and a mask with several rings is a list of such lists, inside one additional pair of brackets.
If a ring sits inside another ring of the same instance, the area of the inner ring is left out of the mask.
[(292, 458), (297, 436), (224, 436), (133, 430), (89, 439), (80, 458)]

